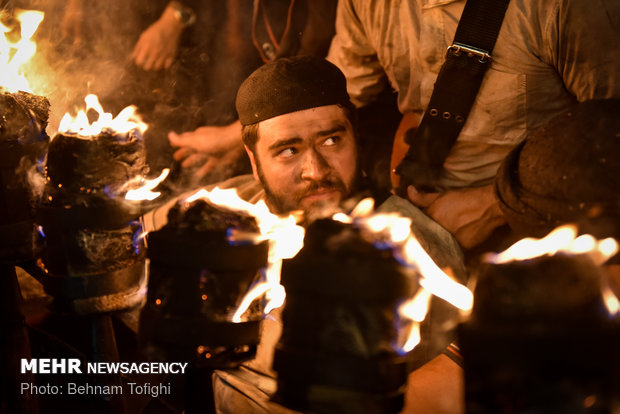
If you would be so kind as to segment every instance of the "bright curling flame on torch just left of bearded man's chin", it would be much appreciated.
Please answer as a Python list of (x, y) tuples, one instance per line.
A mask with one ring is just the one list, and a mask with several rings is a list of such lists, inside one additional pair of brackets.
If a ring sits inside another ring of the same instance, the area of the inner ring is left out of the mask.
[(282, 260), (295, 256), (301, 250), (305, 235), (304, 228), (297, 225), (294, 216), (280, 217), (272, 214), (264, 201), (261, 200), (256, 204), (249, 203), (241, 199), (234, 189), (218, 187), (211, 191), (203, 189), (188, 197), (186, 201), (191, 203), (199, 199), (240, 214), (248, 214), (256, 219), (259, 234), (231, 232), (230, 241), (269, 241), (267, 267), (261, 272), (262, 281), (253, 286), (241, 300), (232, 315), (232, 321), (241, 322), (243, 314), (252, 302), (263, 295), (267, 299), (265, 314), (282, 306), (286, 298), (284, 287), (280, 285)]

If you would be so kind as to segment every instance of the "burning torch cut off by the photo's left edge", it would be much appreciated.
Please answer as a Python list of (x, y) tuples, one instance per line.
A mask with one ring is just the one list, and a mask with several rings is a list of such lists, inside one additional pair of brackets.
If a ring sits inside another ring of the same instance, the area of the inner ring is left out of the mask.
[(37, 11), (16, 13), (13, 21), (0, 12), (0, 345), (7, 370), (0, 387), (2, 395), (8, 396), (6, 407), (15, 412), (38, 409), (35, 397), (19, 398), (15, 392), (20, 381), (33, 378), (17, 376), (20, 358), (30, 357), (30, 341), (14, 266), (27, 267), (35, 255), (35, 197), (29, 176), (49, 141), (45, 133), (49, 101), (31, 93), (20, 69), (36, 50), (31, 37), (42, 19), (43, 13)]

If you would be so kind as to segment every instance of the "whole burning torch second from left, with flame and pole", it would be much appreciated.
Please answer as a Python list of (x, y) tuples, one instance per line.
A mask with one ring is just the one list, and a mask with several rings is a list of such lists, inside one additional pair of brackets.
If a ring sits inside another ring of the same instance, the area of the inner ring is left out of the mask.
[[(157, 201), (144, 180), (146, 125), (136, 108), (113, 117), (94, 95), (86, 97), (86, 104), (77, 116), (65, 115), (49, 144), (36, 206), (42, 244), (38, 267), (54, 299), (53, 310), (87, 322), (89, 360), (115, 362), (119, 354), (111, 315), (144, 303), (146, 247), (140, 216)], [(91, 110), (98, 114), (92, 123)], [(146, 196), (137, 196), (145, 186)], [(120, 385), (120, 378), (93, 381)], [(106, 410), (124, 410), (122, 396), (91, 400)]]

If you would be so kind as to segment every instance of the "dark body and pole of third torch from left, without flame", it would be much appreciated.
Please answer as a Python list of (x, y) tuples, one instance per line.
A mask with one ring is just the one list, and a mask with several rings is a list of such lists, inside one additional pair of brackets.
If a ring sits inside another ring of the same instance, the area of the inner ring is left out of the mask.
[(225, 231), (148, 235), (148, 298), (140, 318), (147, 356), (187, 361), (185, 411), (214, 413), (215, 369), (239, 366), (256, 355), (262, 307), (232, 322), (232, 312), (267, 265), (268, 243), (231, 245)]

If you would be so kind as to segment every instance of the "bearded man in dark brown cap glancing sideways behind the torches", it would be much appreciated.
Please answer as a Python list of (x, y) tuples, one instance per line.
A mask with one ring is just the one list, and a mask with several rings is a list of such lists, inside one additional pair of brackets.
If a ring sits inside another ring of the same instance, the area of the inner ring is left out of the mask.
[[(218, 187), (235, 188), (252, 203), (264, 199), (277, 214), (301, 210), (306, 222), (346, 211), (370, 195), (358, 162), (353, 106), (345, 77), (335, 65), (314, 57), (268, 63), (243, 82), (236, 108), (253, 174)], [(462, 252), (454, 237), (408, 200), (391, 196), (376, 211), (410, 218), (413, 233), (433, 260), (442, 268), (450, 267), (457, 279), (465, 279)], [(162, 208), (151, 215), (148, 227), (163, 226), (165, 212)], [(462, 371), (444, 351), (454, 332), (440, 327), (456, 320), (456, 314), (447, 303), (433, 300), (422, 343), (413, 351), (417, 367), (430, 363), (411, 377), (407, 409), (459, 412), (462, 408)], [(271, 362), (280, 330), (277, 314), (272, 314), (263, 323), (256, 358), (239, 369), (218, 371), (214, 381), (218, 412), (290, 412), (269, 401), (275, 391)]]

